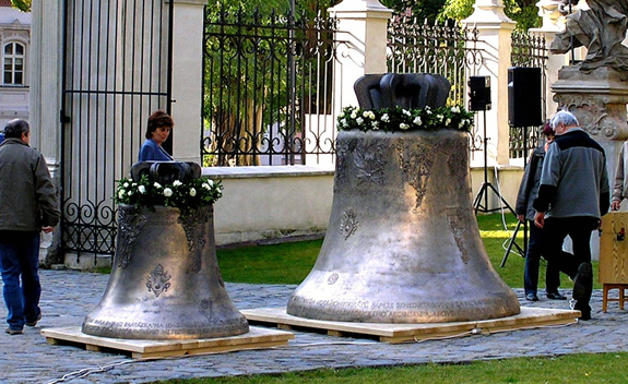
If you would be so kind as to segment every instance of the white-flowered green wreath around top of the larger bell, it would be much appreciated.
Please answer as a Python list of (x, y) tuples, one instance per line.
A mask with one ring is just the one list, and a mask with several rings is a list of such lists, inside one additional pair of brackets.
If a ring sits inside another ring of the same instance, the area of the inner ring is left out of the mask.
[(345, 107), (337, 117), (339, 131), (387, 131), (407, 132), (418, 130), (473, 129), (473, 113), (459, 106), (424, 109), (381, 108), (360, 109)]

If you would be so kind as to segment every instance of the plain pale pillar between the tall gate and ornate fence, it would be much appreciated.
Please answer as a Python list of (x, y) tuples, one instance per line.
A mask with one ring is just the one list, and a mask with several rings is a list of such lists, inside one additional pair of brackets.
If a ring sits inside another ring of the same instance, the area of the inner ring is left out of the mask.
[(203, 7), (208, 0), (174, 0), (173, 156), (201, 164)]

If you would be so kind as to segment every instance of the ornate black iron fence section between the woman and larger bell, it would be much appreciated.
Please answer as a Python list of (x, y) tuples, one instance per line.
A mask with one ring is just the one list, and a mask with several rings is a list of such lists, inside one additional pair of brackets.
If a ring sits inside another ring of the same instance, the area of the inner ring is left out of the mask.
[(205, 11), (206, 166), (333, 158), (335, 19)]

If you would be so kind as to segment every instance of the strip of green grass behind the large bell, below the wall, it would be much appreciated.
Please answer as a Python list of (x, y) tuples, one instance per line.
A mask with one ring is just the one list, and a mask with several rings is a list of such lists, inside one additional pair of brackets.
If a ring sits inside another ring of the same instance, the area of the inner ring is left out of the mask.
[[(479, 231), (488, 257), (503, 281), (512, 288), (523, 287), (524, 259), (512, 250), (500, 267), (507, 242), (517, 226), (512, 214), (481, 215), (477, 218)], [(506, 224), (506, 228), (505, 228)], [(523, 230), (518, 233), (518, 243), (523, 245)], [(253, 284), (299, 284), (313, 266), (322, 240), (311, 240), (273, 245), (244, 247), (217, 251), (223, 278), (232, 283)], [(597, 263), (593, 263), (594, 269)], [(545, 264), (542, 262), (538, 290), (545, 287)], [(571, 280), (561, 275), (561, 288), (572, 287)], [(596, 285), (596, 288), (601, 288)]]

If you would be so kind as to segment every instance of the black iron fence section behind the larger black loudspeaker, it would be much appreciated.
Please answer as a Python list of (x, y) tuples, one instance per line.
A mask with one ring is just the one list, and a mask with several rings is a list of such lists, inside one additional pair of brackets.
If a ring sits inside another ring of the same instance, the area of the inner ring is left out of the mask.
[[(541, 100), (542, 117), (547, 116), (547, 44), (545, 37), (514, 31), (512, 33), (512, 50), (510, 62), (512, 67), (541, 68)], [(510, 158), (525, 158), (524, 148), (534, 148), (538, 144), (543, 127), (510, 127), (509, 156)], [(526, 135), (526, 137), (524, 137)], [(528, 142), (524, 145), (524, 140)]]

